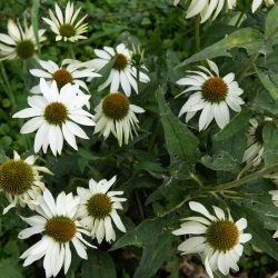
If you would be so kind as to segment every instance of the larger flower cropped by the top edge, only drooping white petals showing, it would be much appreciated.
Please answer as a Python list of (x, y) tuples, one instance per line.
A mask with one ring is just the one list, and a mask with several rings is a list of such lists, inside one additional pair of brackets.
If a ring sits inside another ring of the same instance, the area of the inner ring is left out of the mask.
[[(173, 4), (177, 6), (180, 0), (173, 0)], [(224, 9), (234, 9), (237, 4), (237, 0), (191, 0), (187, 9), (187, 18), (192, 18), (200, 14), (201, 23), (207, 21), (209, 18), (212, 20)]]

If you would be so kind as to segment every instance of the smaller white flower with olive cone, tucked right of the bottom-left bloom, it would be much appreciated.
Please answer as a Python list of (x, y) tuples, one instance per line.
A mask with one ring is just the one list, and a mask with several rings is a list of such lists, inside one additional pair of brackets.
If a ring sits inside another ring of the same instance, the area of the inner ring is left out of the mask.
[(109, 191), (115, 181), (116, 176), (110, 180), (102, 179), (99, 182), (90, 179), (89, 189), (77, 188), (80, 197), (78, 219), (99, 244), (103, 239), (108, 242), (116, 239), (112, 221), (119, 230), (126, 232), (117, 209), (122, 209), (121, 202), (127, 199), (118, 197), (123, 191)]

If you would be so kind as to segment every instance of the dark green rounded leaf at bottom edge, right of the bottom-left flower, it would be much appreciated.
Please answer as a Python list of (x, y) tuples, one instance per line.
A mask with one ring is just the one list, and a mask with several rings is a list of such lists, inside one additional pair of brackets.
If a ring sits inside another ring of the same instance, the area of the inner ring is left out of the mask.
[(82, 278), (116, 278), (116, 266), (113, 259), (99, 249), (89, 252), (89, 258), (82, 264)]

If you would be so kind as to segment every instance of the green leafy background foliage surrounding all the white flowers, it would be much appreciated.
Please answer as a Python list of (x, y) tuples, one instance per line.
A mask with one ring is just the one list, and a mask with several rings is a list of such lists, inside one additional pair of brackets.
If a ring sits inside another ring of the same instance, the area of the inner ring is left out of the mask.
[[(64, 7), (66, 2), (59, 1), (59, 4)], [(185, 19), (185, 3), (175, 8), (166, 0), (76, 1), (82, 6), (82, 12), (88, 13), (89, 22), (88, 40), (73, 46), (76, 58), (90, 60), (95, 57), (93, 49), (102, 46), (140, 44), (145, 48), (151, 82), (142, 85), (140, 93), (131, 98), (131, 102), (147, 112), (140, 118), (139, 136), (128, 146), (119, 148), (113, 138), (103, 141), (88, 129), (90, 140), (80, 140), (78, 151), (66, 147), (61, 157), (41, 156), (41, 163), (54, 172), (53, 177), (44, 178), (53, 193), (86, 187), (90, 178), (98, 180), (117, 175), (116, 188), (125, 190), (128, 198), (122, 214), (128, 232), (119, 232), (112, 246), (102, 244), (98, 250), (90, 250), (87, 261), (75, 256), (67, 277), (205, 275), (198, 257), (178, 256), (180, 239), (171, 236), (179, 219), (189, 215), (187, 200), (197, 197), (205, 205), (228, 205), (235, 219), (248, 219), (248, 230), (254, 238), (245, 248), (247, 256), (240, 260), (241, 275), (267, 277), (277, 271), (278, 245), (271, 234), (278, 227), (278, 214), (268, 193), (275, 189), (274, 183), (260, 175), (247, 179), (241, 187), (234, 188), (231, 183), (228, 189), (232, 192), (224, 193), (219, 189), (235, 180), (244, 168), (241, 159), (250, 117), (278, 116), (278, 8), (269, 13), (259, 10), (252, 14), (250, 2), (240, 1), (237, 11), (202, 24), (200, 51), (197, 51), (195, 20)], [(54, 1), (0, 1), (0, 32), (7, 31), (9, 18), (26, 17), (29, 22), (47, 28), (41, 18), (53, 4)], [(239, 27), (240, 12), (245, 16)], [(54, 42), (50, 31), (47, 36), (40, 49), (41, 59), (60, 62), (70, 57), (67, 43)], [(237, 73), (247, 105), (224, 130), (212, 125), (198, 133), (197, 121), (185, 126), (182, 119), (176, 117), (187, 98), (175, 98), (181, 90), (176, 81), (195, 67), (192, 62), (205, 59), (220, 64), (222, 75)], [(27, 106), (29, 89), (37, 82), (29, 73), (36, 60), (6, 61), (0, 67), (0, 159), (3, 161), (6, 156), (12, 156), (13, 149), (26, 156), (32, 152), (33, 135), (21, 136), (23, 121), (11, 116)], [(105, 79), (106, 72), (102, 73)], [(101, 99), (97, 92), (100, 82), (93, 80), (89, 86), (92, 107)], [(11, 93), (14, 103), (9, 99)], [(264, 163), (268, 169), (278, 161), (278, 132), (274, 127), (264, 129)], [(200, 188), (200, 183), (205, 188)], [(3, 196), (1, 203), (2, 207), (8, 203)], [(18, 240), (17, 235), (24, 227), (18, 215), (28, 215), (28, 211), (18, 209), (0, 217), (0, 277), (41, 277), (41, 261), (23, 268), (18, 259), (38, 240), (37, 237)]]

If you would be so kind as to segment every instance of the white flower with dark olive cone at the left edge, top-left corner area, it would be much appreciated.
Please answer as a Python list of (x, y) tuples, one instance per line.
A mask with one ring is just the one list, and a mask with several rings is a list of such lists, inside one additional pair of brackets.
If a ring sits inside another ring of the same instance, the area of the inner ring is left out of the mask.
[[(46, 40), (44, 29), (38, 31), (39, 41)], [(0, 60), (28, 59), (34, 56), (38, 44), (33, 32), (33, 27), (24, 29), (20, 23), (16, 24), (13, 20), (8, 20), (8, 33), (0, 33)]]

